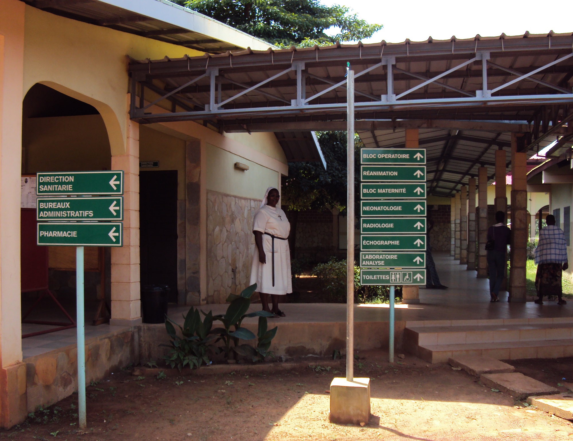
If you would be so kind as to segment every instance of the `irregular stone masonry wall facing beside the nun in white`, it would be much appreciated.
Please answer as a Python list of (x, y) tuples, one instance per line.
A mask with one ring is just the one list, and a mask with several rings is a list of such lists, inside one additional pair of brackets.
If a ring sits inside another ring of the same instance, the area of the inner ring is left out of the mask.
[(207, 191), (207, 304), (249, 286), (253, 217), (261, 201)]

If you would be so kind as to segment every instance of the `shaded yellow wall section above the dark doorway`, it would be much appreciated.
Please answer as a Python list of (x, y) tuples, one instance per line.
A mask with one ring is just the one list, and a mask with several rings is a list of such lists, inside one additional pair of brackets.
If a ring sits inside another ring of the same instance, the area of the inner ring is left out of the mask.
[(140, 171), (177, 170), (177, 199), (185, 199), (185, 146), (182, 139), (145, 125), (139, 127), (139, 160), (159, 161), (159, 167)]

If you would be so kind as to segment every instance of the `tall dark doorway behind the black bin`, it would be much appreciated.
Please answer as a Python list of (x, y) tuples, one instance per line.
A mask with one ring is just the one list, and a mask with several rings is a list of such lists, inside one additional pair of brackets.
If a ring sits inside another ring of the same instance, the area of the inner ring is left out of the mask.
[(141, 283), (168, 285), (177, 301), (177, 171), (139, 173)]

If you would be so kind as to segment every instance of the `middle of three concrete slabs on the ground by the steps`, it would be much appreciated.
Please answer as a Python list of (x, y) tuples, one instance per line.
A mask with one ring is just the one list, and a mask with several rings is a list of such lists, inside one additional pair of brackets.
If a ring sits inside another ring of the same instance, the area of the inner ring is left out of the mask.
[(480, 377), (484, 385), (509, 393), (518, 400), (524, 400), (528, 396), (552, 395), (559, 393), (558, 389), (541, 381), (532, 379), (519, 372), (510, 373), (484, 373)]

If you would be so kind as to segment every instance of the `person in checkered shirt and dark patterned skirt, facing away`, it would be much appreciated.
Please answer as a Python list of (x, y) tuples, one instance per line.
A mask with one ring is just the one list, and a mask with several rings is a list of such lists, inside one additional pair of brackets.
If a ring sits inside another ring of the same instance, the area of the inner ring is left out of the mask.
[(567, 302), (562, 298), (561, 276), (568, 268), (567, 242), (565, 233), (555, 225), (555, 216), (550, 214), (545, 218), (547, 227), (539, 231), (539, 244), (535, 249), (535, 289), (537, 290), (536, 304), (543, 305), (543, 296), (556, 296), (558, 305)]

